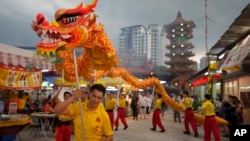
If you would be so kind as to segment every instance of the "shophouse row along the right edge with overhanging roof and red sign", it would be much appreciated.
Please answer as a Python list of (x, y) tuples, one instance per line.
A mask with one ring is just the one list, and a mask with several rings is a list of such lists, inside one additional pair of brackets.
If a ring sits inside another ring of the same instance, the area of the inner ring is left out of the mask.
[(188, 79), (190, 91), (204, 100), (204, 94), (227, 99), (237, 96), (243, 108), (244, 123), (250, 123), (250, 4), (235, 19), (208, 56), (217, 57), (210, 65)]

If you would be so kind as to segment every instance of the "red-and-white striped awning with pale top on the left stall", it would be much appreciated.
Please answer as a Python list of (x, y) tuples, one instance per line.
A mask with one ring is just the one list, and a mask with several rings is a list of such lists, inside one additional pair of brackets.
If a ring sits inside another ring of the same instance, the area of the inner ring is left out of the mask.
[(39, 70), (54, 70), (54, 65), (34, 58), (35, 52), (0, 43), (0, 64)]

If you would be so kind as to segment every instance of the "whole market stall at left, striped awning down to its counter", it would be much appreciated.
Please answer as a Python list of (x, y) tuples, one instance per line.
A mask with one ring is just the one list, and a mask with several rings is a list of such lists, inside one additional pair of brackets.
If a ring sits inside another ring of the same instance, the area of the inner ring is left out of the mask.
[(35, 52), (0, 43), (0, 101), (4, 110), (0, 114), (0, 141), (14, 140), (31, 119), (20, 114), (30, 99), (30, 91), (42, 86), (42, 70), (54, 66), (35, 57)]

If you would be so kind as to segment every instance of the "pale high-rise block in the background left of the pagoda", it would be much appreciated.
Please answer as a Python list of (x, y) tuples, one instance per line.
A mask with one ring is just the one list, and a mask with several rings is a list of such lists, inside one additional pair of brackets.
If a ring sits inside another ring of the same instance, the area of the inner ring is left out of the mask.
[[(157, 24), (151, 24), (147, 27), (135, 25), (122, 28), (118, 47), (118, 55), (122, 60), (121, 66), (126, 62), (130, 62), (127, 59), (131, 59), (131, 55), (136, 56), (142, 62), (146, 61), (154, 66), (164, 65), (162, 38), (163, 28)], [(133, 51), (133, 53), (127, 54), (128, 50), (130, 52)], [(126, 66), (134, 66), (134, 63), (138, 63), (138, 61), (126, 63)]]

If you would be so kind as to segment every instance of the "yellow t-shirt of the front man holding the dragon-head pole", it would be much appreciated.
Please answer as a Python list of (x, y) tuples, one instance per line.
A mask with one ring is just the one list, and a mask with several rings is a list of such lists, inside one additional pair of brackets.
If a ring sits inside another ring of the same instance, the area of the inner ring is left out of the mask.
[[(83, 102), (83, 124), (87, 141), (102, 141), (104, 136), (113, 135), (109, 116), (102, 104), (95, 111), (89, 111), (88, 102)], [(75, 141), (83, 141), (83, 132), (79, 106), (68, 107), (70, 116), (74, 116)]]

